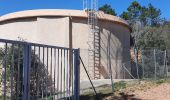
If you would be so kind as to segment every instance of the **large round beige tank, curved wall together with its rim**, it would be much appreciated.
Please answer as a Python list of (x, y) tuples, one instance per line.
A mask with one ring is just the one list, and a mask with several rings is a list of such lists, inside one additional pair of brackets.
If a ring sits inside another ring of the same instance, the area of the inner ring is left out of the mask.
[[(101, 36), (101, 76), (110, 78), (109, 73), (112, 72), (113, 78), (122, 78), (122, 64), (130, 60), (130, 28), (118, 17), (102, 12), (98, 14), (98, 17)], [(23, 39), (28, 42), (69, 47), (70, 29), (72, 30), (72, 46), (80, 48), (80, 55), (89, 71), (87, 44), (89, 26), (85, 11), (32, 10), (0, 17), (0, 38), (3, 39)], [(82, 65), (80, 73), (81, 80), (87, 79)]]

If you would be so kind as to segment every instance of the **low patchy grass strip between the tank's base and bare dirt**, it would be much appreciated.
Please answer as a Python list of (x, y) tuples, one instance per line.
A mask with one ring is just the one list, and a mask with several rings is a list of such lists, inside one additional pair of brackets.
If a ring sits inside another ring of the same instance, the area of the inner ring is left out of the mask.
[[(133, 93), (135, 91), (145, 91), (152, 87), (157, 87), (163, 83), (170, 84), (170, 77), (167, 79), (159, 79), (159, 80), (140, 80), (140, 81), (132, 80), (132, 81), (115, 82), (113, 84), (114, 93), (112, 93), (111, 91), (111, 86), (108, 86), (108, 85), (96, 87), (96, 90), (98, 93), (97, 96), (100, 98), (100, 100), (106, 100), (106, 97), (111, 97), (113, 96), (113, 94), (115, 98), (119, 96), (121, 97), (123, 95), (126, 96), (126, 94), (128, 94), (129, 92)], [(91, 90), (88, 89), (85, 94), (82, 94), (80, 96), (80, 99), (81, 100), (95, 100), (96, 96), (92, 89)]]

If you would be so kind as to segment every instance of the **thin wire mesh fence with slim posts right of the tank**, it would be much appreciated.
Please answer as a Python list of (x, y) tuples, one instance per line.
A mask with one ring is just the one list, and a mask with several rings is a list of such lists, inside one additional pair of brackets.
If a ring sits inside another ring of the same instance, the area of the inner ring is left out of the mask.
[(122, 65), (123, 78), (127, 78), (126, 75), (133, 79), (161, 79), (170, 76), (169, 54), (168, 50), (156, 49), (134, 53), (131, 60)]

